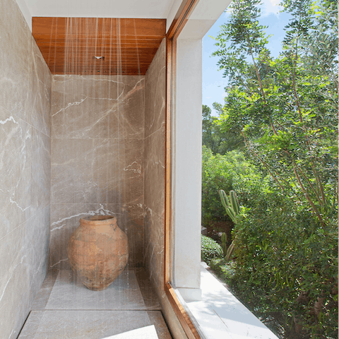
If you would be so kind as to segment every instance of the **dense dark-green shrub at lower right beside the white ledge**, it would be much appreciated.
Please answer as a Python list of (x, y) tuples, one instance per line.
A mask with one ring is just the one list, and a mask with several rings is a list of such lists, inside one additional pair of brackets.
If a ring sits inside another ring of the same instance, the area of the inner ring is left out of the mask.
[(305, 338), (335, 338), (338, 223), (319, 226), (307, 208), (279, 192), (266, 194), (237, 219), (237, 269), (229, 283), (258, 316), (283, 321), (285, 333), (298, 327)]

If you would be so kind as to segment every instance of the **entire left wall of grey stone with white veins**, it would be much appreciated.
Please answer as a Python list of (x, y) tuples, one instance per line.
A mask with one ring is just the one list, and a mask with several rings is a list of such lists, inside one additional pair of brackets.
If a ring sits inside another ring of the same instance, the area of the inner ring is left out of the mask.
[(0, 337), (17, 338), (47, 271), (52, 76), (16, 1), (0, 1)]

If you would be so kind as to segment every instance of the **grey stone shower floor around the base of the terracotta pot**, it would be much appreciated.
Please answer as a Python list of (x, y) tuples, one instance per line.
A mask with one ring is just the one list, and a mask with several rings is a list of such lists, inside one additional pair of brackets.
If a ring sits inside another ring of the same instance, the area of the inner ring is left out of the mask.
[(125, 270), (104, 291), (69, 270), (47, 275), (18, 339), (172, 339), (142, 269)]

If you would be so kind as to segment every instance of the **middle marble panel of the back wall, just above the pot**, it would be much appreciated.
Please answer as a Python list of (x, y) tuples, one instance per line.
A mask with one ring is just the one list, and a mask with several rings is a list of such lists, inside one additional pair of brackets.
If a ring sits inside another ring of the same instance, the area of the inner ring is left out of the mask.
[(52, 202), (143, 203), (143, 142), (52, 138)]

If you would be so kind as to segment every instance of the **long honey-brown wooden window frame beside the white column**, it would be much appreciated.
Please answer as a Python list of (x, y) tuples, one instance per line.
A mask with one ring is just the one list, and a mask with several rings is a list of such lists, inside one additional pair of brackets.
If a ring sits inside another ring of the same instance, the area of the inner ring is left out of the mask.
[(166, 136), (165, 136), (165, 292), (189, 339), (201, 339), (171, 285), (172, 277), (172, 115), (175, 107), (177, 37), (198, 0), (182, 1), (166, 35)]

